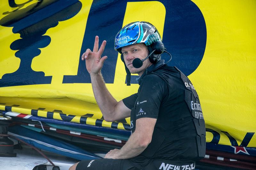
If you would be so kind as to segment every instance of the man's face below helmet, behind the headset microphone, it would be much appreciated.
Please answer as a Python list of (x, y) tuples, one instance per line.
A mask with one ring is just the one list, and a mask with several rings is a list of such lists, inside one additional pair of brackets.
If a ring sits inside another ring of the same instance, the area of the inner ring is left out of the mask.
[(135, 68), (132, 65), (132, 61), (135, 58), (139, 58), (140, 60), (142, 60), (148, 56), (148, 48), (144, 43), (132, 44), (132, 45), (123, 47), (122, 53), (124, 55), (124, 62), (132, 74), (137, 73), (139, 74), (139, 76), (141, 76), (143, 72), (150, 65), (152, 65), (149, 59), (145, 60), (143, 62), (143, 65), (140, 68)]

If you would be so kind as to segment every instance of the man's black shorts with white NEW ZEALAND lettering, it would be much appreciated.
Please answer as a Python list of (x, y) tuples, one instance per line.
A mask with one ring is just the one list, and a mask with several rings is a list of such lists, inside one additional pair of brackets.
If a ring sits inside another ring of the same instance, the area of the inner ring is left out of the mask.
[(195, 162), (177, 162), (161, 159), (152, 159), (146, 166), (132, 162), (131, 159), (93, 159), (82, 160), (76, 170), (192, 170)]

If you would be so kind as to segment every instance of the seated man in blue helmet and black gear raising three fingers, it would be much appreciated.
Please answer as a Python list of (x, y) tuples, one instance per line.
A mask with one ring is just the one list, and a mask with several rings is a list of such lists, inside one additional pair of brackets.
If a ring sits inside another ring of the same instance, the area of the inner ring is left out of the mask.
[[(131, 116), (132, 135), (119, 150), (104, 159), (84, 160), (70, 170), (82, 169), (194, 169), (205, 155), (205, 126), (200, 101), (190, 80), (176, 67), (161, 60), (165, 51), (160, 34), (148, 22), (133, 22), (116, 35), (115, 49), (121, 53), (127, 72), (140, 78), (138, 93), (117, 102), (108, 92), (100, 70), (106, 41), (98, 50), (82, 55), (90, 73), (97, 104), (106, 121)], [(148, 57), (147, 57), (148, 56)]]

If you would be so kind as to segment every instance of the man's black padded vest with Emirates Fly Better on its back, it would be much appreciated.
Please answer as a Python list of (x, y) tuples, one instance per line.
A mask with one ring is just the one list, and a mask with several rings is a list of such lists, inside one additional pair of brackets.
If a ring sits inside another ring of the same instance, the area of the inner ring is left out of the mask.
[[(140, 157), (190, 161), (205, 156), (205, 124), (198, 94), (191, 81), (176, 67), (162, 66), (148, 74), (156, 74), (162, 78), (169, 92), (168, 102), (178, 102), (177, 109), (161, 106), (151, 143), (139, 155)], [(147, 75), (146, 75), (147, 76)], [(145, 78), (146, 78), (145, 76)], [(142, 79), (143, 81), (143, 79)], [(173, 98), (173, 84), (177, 84), (177, 98)], [(140, 87), (143, 88), (143, 87)], [(140, 89), (139, 89), (140, 91)], [(131, 120), (136, 122), (135, 108), (131, 112)], [(164, 110), (165, 109), (165, 110)], [(161, 112), (161, 113), (160, 113)], [(182, 113), (181, 113), (182, 112)], [(174, 117), (175, 116), (175, 117)], [(166, 124), (167, 123), (167, 124)], [(133, 123), (132, 130), (136, 124)], [(176, 153), (173, 153), (176, 152)], [(136, 157), (135, 157), (136, 159)]]

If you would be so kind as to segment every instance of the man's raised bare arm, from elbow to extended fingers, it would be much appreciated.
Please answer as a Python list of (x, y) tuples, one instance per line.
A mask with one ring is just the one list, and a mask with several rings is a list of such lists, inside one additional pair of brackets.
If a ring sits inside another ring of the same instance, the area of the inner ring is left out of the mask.
[(87, 49), (82, 55), (82, 60), (86, 62), (86, 69), (89, 72), (92, 80), (92, 89), (94, 97), (100, 107), (104, 119), (108, 122), (113, 122), (130, 116), (131, 110), (127, 108), (123, 101), (117, 102), (109, 93), (103, 77), (101, 75), (101, 68), (107, 56), (101, 55), (106, 46), (106, 41), (103, 41), (99, 48), (99, 37), (95, 37), (93, 51)]

